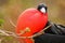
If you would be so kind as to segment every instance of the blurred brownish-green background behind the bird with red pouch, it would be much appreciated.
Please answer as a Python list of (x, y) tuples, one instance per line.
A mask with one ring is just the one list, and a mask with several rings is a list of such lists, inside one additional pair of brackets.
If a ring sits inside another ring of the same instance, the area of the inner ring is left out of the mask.
[[(0, 28), (8, 31), (15, 31), (9, 19), (15, 25), (18, 15), (26, 9), (37, 8), (39, 3), (48, 5), (49, 20), (55, 24), (65, 25), (65, 0), (0, 0)], [(17, 43), (12, 38), (4, 43)], [(11, 39), (11, 40), (10, 40)]]

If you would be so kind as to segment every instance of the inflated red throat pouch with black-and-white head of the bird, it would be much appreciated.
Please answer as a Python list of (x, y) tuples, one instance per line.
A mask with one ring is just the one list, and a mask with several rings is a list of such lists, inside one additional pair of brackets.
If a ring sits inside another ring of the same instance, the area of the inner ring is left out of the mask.
[[(18, 16), (16, 33), (22, 33), (20, 37), (30, 37), (44, 29), (47, 23), (47, 6), (39, 4), (37, 9), (27, 9)], [(25, 43), (32, 43), (29, 39), (25, 39), (24, 41)]]

